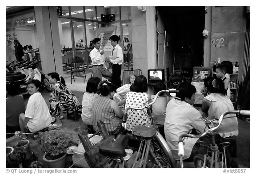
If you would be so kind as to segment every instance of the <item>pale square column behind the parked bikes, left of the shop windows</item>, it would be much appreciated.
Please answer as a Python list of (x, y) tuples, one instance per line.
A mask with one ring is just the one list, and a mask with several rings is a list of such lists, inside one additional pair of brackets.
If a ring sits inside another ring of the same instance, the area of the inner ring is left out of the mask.
[(63, 75), (56, 6), (35, 6), (35, 16), (42, 70)]

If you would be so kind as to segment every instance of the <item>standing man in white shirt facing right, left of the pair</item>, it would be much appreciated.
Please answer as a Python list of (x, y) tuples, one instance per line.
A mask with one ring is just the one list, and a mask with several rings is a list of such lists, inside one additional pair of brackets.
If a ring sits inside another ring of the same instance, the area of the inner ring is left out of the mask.
[(95, 38), (92, 40), (94, 49), (90, 52), (90, 57), (92, 59), (92, 73), (93, 77), (99, 77), (102, 80), (102, 77), (112, 81), (112, 73), (107, 70), (104, 58), (104, 50), (100, 50), (100, 38)]

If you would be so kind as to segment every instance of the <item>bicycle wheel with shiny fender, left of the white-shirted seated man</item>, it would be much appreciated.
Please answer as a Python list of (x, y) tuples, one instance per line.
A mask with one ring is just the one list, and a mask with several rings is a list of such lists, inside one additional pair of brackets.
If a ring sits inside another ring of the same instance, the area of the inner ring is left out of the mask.
[(150, 154), (152, 155), (157, 167), (174, 168), (172, 151), (159, 131), (157, 131), (156, 136), (151, 140)]

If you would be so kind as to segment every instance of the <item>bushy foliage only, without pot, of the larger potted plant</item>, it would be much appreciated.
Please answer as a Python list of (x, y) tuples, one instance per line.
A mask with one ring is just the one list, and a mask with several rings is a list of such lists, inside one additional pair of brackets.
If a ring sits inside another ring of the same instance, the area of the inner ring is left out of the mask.
[(67, 152), (69, 141), (72, 140), (72, 136), (63, 130), (46, 131), (44, 134), (36, 136), (36, 142), (38, 142), (40, 150), (46, 153), (47, 159), (58, 159)]

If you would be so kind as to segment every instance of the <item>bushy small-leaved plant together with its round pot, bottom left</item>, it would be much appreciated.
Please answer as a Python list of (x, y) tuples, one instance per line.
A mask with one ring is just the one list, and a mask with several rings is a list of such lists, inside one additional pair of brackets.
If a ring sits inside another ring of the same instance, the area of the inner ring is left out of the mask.
[(63, 130), (46, 131), (36, 136), (40, 150), (45, 154), (43, 159), (49, 168), (64, 168), (67, 148), (72, 140), (70, 133)]

